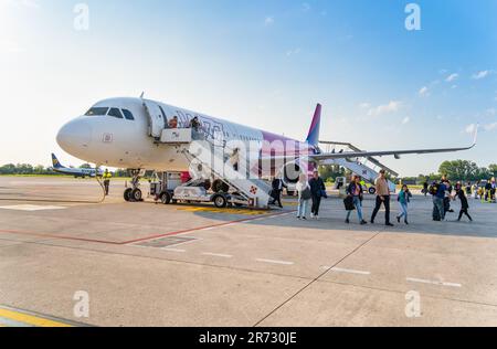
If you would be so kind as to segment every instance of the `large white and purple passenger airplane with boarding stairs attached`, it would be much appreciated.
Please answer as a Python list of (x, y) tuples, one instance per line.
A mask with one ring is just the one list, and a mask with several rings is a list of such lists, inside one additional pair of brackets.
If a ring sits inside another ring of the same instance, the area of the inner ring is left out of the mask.
[[(288, 173), (311, 173), (320, 163), (334, 159), (356, 159), (403, 155), (422, 155), (469, 150), (476, 146), (442, 149), (413, 149), (387, 151), (340, 151), (322, 152), (319, 149), (319, 133), (322, 106), (317, 105), (307, 139), (279, 136), (261, 129), (239, 125), (157, 101), (138, 97), (109, 98), (96, 103), (89, 110), (64, 125), (56, 136), (62, 149), (72, 156), (97, 166), (126, 168), (134, 171), (190, 171), (190, 163), (183, 156), (190, 145), (165, 144), (161, 136), (169, 128), (171, 119), (178, 120), (178, 128), (188, 128), (193, 118), (200, 123), (205, 139), (221, 144), (239, 141), (255, 144), (246, 155), (258, 160), (258, 167), (272, 163), (268, 172), (258, 177), (278, 176), (285, 184), (295, 184), (298, 176)], [(283, 147), (273, 146), (279, 142)], [(275, 165), (277, 163), (277, 165)], [(257, 170), (256, 170), (257, 171)]]

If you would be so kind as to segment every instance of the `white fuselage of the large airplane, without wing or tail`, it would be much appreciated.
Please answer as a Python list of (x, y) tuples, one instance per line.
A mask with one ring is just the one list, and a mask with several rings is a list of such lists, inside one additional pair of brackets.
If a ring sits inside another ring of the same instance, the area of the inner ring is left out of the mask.
[[(144, 103), (151, 109), (150, 114), (155, 113), (152, 116), (152, 118), (156, 117), (155, 123), (150, 121)], [(130, 112), (134, 119), (110, 116), (108, 115), (110, 108), (114, 108), (114, 112), (119, 109), (121, 115), (125, 110)], [(152, 110), (154, 108), (156, 112)], [(253, 149), (250, 154), (251, 158), (264, 155), (266, 151), (264, 144), (275, 140), (296, 145), (289, 147), (290, 150), (277, 154), (279, 156), (293, 157), (296, 152), (302, 154), (303, 148), (309, 152), (314, 151), (308, 145), (293, 139), (154, 101), (113, 98), (97, 103), (92, 109), (98, 110), (97, 114), (91, 115), (92, 113), (88, 112), (87, 115), (66, 124), (57, 135), (57, 142), (66, 152), (97, 166), (156, 171), (188, 171), (190, 163), (180, 154), (180, 148), (157, 142), (154, 137), (150, 137), (150, 133), (154, 131), (151, 128), (163, 129), (175, 116), (178, 118), (180, 128), (187, 127), (193, 117), (198, 117), (203, 130), (212, 139), (251, 142)], [(107, 114), (99, 115), (104, 114), (105, 109), (107, 109)], [(253, 148), (254, 144), (258, 145), (256, 149)], [(296, 148), (300, 150), (295, 151)], [(267, 151), (275, 154), (274, 149)]]

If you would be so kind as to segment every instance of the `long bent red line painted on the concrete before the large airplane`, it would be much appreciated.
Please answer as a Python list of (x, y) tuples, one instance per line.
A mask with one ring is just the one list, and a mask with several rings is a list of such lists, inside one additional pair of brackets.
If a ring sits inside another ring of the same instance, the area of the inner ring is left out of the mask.
[(57, 239), (57, 240), (92, 242), (92, 243), (99, 243), (99, 244), (107, 244), (107, 245), (128, 245), (128, 244), (133, 244), (133, 243), (137, 243), (137, 242), (156, 240), (156, 239), (167, 237), (167, 236), (175, 236), (175, 235), (197, 232), (197, 231), (211, 229), (211, 228), (220, 228), (220, 226), (225, 226), (225, 225), (231, 225), (231, 224), (251, 222), (251, 221), (255, 221), (255, 220), (260, 220), (260, 219), (274, 218), (274, 216), (284, 215), (287, 213), (288, 212), (281, 212), (281, 213), (268, 214), (268, 215), (258, 215), (258, 216), (247, 218), (247, 219), (237, 220), (237, 221), (229, 221), (229, 222), (223, 222), (223, 223), (219, 223), (219, 224), (204, 225), (204, 226), (181, 230), (181, 231), (170, 232), (170, 233), (166, 233), (166, 234), (158, 234), (158, 235), (152, 235), (152, 236), (147, 236), (147, 237), (141, 237), (141, 239), (125, 241), (125, 242), (74, 237), (74, 236), (54, 235), (54, 234), (50, 234), (50, 233), (36, 233), (36, 232), (31, 232), (31, 231), (17, 231), (17, 230), (3, 230), (3, 229), (0, 230), (0, 234), (3, 233), (3, 234), (29, 235), (29, 236), (49, 237), (49, 239)]

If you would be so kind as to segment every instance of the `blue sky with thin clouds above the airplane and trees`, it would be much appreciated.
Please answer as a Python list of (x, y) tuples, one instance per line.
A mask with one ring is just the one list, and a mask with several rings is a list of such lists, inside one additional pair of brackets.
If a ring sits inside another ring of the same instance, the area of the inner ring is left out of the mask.
[(0, 0), (0, 163), (50, 165), (57, 129), (98, 99), (138, 96), (305, 139), (368, 150), (478, 148), (385, 162), (401, 174), (442, 160), (497, 162), (497, 2)]

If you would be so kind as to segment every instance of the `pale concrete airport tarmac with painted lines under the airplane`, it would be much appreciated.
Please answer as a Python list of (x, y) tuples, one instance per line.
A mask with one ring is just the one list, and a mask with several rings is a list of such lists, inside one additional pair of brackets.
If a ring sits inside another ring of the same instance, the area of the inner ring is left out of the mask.
[(293, 199), (216, 210), (124, 189), (98, 203), (95, 180), (0, 177), (0, 327), (497, 326), (497, 204), (433, 222), (417, 194), (411, 224), (385, 228), (346, 224), (337, 195), (305, 222)]

